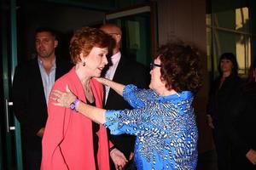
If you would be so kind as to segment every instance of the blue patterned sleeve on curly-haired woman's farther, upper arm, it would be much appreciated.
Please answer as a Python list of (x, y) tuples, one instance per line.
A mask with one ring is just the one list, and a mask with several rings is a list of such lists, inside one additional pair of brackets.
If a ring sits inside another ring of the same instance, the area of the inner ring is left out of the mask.
[(159, 96), (151, 89), (140, 89), (129, 84), (124, 88), (123, 97), (133, 108), (142, 108)]

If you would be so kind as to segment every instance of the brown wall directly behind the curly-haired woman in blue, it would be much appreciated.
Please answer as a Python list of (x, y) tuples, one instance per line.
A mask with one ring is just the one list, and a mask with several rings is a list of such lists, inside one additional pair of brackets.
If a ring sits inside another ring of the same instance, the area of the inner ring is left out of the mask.
[(212, 150), (212, 133), (207, 127), (206, 105), (208, 94), (207, 37), (205, 0), (157, 0), (159, 43), (177, 38), (195, 44), (204, 56), (201, 58), (203, 86), (195, 97), (195, 111), (199, 127), (199, 151)]

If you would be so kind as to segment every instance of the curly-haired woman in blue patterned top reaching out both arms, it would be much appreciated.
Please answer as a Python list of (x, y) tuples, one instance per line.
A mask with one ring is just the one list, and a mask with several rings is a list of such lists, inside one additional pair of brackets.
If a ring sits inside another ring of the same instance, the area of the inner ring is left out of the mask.
[(86, 105), (68, 87), (67, 92), (55, 90), (51, 98), (55, 105), (79, 111), (103, 124), (112, 134), (136, 135), (139, 170), (195, 169), (198, 131), (192, 102), (201, 86), (199, 57), (198, 51), (188, 45), (162, 46), (151, 64), (150, 89), (98, 79), (122, 95), (133, 110), (106, 111)]

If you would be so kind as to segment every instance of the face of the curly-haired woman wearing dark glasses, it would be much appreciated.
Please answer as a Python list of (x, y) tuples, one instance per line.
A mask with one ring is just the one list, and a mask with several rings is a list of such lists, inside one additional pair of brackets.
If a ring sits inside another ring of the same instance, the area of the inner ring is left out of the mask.
[[(161, 65), (160, 58), (154, 59), (154, 64)], [(149, 88), (156, 91), (158, 94), (161, 94), (163, 88), (165, 88), (164, 81), (161, 80), (160, 66), (153, 66), (150, 71), (151, 81), (149, 84)]]

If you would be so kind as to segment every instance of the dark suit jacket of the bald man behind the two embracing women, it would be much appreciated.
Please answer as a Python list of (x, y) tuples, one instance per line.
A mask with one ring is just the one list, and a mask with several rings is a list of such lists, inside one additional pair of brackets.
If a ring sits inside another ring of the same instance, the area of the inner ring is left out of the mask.
[[(146, 67), (137, 63), (136, 61), (126, 59), (121, 56), (119, 65), (114, 73), (113, 81), (122, 84), (135, 84), (138, 88), (148, 88), (149, 71)], [(110, 88), (107, 103), (105, 105), (107, 110), (124, 110), (132, 109), (131, 106)], [(128, 134), (110, 135), (110, 140), (115, 147), (121, 150), (126, 158), (129, 158), (131, 151), (134, 149), (135, 137)]]

